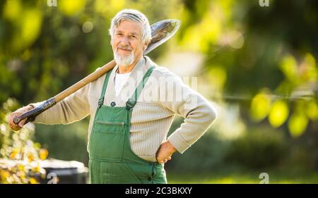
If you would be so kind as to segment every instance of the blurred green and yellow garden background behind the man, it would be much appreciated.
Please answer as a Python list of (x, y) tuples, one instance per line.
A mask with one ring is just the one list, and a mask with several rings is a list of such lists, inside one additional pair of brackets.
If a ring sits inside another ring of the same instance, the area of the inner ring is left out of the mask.
[[(245, 181), (257, 182), (256, 174), (273, 171), (280, 175), (275, 182), (318, 182), (314, 0), (270, 0), (269, 6), (258, 0), (57, 0), (56, 7), (40, 0), (1, 1), (0, 103), (9, 97), (22, 105), (43, 101), (110, 61), (107, 30), (123, 8), (138, 9), (151, 23), (182, 20), (177, 35), (149, 56), (176, 73), (182, 70), (181, 77), (198, 77), (198, 91), (218, 110), (206, 135), (166, 164), (168, 175), (245, 178), (246, 173)], [(187, 57), (192, 59), (182, 62)], [(170, 133), (181, 123), (176, 118)], [(88, 118), (36, 125), (35, 140), (49, 157), (87, 165), (87, 128)], [(303, 178), (308, 174), (312, 178)], [(170, 180), (203, 182), (200, 178)]]

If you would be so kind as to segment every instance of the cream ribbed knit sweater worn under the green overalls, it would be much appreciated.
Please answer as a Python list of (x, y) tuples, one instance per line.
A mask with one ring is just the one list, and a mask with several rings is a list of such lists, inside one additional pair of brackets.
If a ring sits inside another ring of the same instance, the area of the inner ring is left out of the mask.
[[(155, 154), (164, 140), (169, 140), (179, 153), (199, 140), (216, 119), (216, 110), (201, 94), (185, 85), (181, 78), (167, 68), (157, 66), (147, 56), (143, 56), (136, 64), (117, 97), (114, 93), (114, 74), (118, 66), (115, 66), (108, 81), (104, 105), (110, 106), (114, 101), (116, 106), (125, 106), (151, 66), (155, 66), (155, 69), (132, 112), (130, 142), (136, 155), (147, 161), (156, 161)], [(90, 82), (51, 109), (40, 113), (34, 123), (68, 124), (90, 115), (89, 141), (104, 80), (105, 75), (102, 75)], [(167, 138), (175, 113), (184, 118), (184, 123)]]

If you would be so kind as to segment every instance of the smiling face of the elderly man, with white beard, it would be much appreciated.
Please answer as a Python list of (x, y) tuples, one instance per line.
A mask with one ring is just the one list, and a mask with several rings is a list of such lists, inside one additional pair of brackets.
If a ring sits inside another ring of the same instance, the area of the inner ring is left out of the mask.
[(142, 42), (141, 24), (131, 20), (123, 20), (114, 29), (110, 44), (114, 51), (114, 59), (119, 66), (129, 66), (139, 61), (146, 44)]

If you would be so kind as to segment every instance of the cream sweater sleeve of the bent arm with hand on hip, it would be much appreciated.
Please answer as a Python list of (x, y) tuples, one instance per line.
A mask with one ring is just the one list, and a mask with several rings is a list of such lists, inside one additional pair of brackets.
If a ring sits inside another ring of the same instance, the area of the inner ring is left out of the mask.
[(172, 132), (167, 140), (182, 154), (199, 140), (216, 120), (216, 110), (201, 94), (185, 85), (177, 75), (167, 72), (164, 76), (166, 86), (160, 86), (160, 94), (165, 93), (166, 96), (160, 101), (167, 109), (184, 118), (184, 123)]

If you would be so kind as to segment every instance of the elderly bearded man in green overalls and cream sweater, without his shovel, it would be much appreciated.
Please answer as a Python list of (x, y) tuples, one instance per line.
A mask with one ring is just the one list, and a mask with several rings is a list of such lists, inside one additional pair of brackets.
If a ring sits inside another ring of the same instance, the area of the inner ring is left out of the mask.
[[(143, 56), (151, 40), (151, 27), (143, 13), (117, 13), (110, 36), (117, 65), (34, 122), (67, 124), (90, 114), (92, 183), (167, 183), (164, 163), (175, 151), (182, 154), (194, 144), (216, 119), (216, 111), (177, 75)], [(13, 112), (11, 128), (19, 130), (25, 121), (16, 125), (14, 116), (38, 104)], [(167, 138), (175, 113), (184, 123)]]

